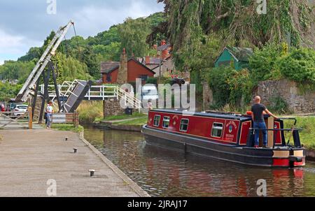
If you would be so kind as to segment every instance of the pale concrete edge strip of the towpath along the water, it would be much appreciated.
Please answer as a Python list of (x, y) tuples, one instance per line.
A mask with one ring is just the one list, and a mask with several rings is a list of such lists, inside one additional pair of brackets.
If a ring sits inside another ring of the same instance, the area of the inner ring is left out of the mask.
[(134, 181), (130, 179), (125, 173), (123, 173), (122, 170), (120, 170), (117, 166), (115, 166), (109, 159), (107, 159), (99, 150), (97, 150), (93, 145), (91, 145), (87, 140), (84, 138), (84, 131), (80, 132), (80, 140), (87, 145), (87, 147), (90, 147), (90, 150), (97, 154), (97, 156), (102, 159), (104, 163), (106, 163), (111, 170), (113, 170), (114, 173), (116, 173), (133, 191), (136, 192), (140, 197), (151, 197), (144, 189), (139, 187), (138, 184), (136, 184)]

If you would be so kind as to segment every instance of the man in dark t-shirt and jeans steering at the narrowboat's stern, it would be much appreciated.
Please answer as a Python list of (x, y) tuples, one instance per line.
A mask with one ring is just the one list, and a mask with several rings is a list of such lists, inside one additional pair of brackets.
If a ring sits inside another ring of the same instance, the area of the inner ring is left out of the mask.
[[(253, 119), (253, 127), (255, 129), (260, 129), (262, 131), (263, 135), (263, 147), (267, 148), (267, 126), (264, 119), (264, 112), (268, 115), (274, 117), (275, 119), (278, 119), (275, 115), (272, 114), (272, 112), (269, 112), (269, 110), (260, 103), (261, 99), (260, 96), (255, 96), (254, 99), (255, 103), (251, 107), (251, 117)], [(255, 145), (254, 147), (257, 149), (259, 147), (259, 131), (255, 130)]]

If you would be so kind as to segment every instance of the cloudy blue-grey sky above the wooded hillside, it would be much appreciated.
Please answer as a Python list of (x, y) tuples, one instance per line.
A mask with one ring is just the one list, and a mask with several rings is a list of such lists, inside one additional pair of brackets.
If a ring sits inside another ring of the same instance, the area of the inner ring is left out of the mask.
[[(56, 2), (54, 13), (53, 1)], [(156, 0), (0, 0), (0, 64), (18, 59), (30, 47), (41, 46), (50, 31), (69, 20), (77, 34), (94, 36), (126, 17), (144, 17), (162, 11)], [(73, 36), (70, 29), (66, 38)]]

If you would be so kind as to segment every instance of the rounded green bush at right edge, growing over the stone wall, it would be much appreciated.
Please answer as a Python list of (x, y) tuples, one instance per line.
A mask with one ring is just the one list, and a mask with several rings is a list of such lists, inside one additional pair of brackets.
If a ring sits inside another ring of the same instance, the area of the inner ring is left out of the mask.
[(301, 48), (279, 59), (281, 74), (296, 82), (315, 84), (315, 50)]

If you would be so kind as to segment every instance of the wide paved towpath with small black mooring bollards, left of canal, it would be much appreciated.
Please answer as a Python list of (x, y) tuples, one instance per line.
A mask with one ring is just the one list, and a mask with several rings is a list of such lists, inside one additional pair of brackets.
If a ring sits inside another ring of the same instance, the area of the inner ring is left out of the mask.
[(48, 196), (50, 179), (57, 196), (148, 196), (76, 133), (0, 131), (0, 196)]

